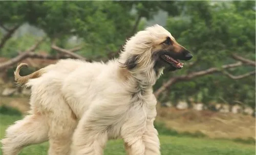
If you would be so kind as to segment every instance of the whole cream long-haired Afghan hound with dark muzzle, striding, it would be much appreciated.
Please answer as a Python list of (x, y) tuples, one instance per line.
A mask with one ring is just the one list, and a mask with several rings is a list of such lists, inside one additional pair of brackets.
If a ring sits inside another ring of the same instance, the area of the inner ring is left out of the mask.
[(19, 70), (27, 64), (18, 65), (15, 80), (31, 88), (31, 110), (7, 128), (3, 154), (49, 140), (50, 155), (100, 155), (117, 138), (127, 154), (161, 154), (153, 86), (164, 68), (181, 69), (180, 60), (192, 57), (156, 24), (137, 32), (107, 63), (59, 60), (26, 76)]

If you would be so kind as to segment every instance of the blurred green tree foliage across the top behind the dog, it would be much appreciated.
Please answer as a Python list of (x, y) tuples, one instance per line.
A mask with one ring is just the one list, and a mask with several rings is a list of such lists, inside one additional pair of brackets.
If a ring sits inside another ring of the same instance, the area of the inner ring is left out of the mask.
[[(77, 45), (76, 53), (96, 60), (117, 56), (127, 37), (143, 29), (145, 22), (154, 19), (160, 10), (168, 13), (165, 28), (176, 40), (194, 54), (194, 64), (176, 72), (165, 72), (155, 90), (172, 77), (217, 67), (218, 71), (184, 82), (174, 83), (165, 90), (167, 97), (160, 100), (177, 101), (195, 98), (209, 104), (244, 102), (255, 107), (255, 76), (230, 79), (255, 70), (253, 65), (224, 68), (236, 63), (233, 55), (255, 60), (255, 2), (209, 2), (209, 1), (14, 1), (0, 2), (0, 28), (2, 38), (0, 55), (16, 57), (38, 40), (38, 33), (15, 35), (21, 25), (29, 24), (44, 32), (45, 40), (40, 50), (55, 56), (56, 44), (63, 49)], [(76, 37), (76, 41), (70, 41)], [(112, 54), (110, 56), (110, 54)], [(172, 84), (172, 83), (171, 83)]]

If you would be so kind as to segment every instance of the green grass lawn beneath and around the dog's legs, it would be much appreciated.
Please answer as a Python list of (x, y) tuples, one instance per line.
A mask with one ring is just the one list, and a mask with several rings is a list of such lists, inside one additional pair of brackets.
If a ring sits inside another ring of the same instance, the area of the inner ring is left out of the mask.
[[(20, 116), (10, 116), (0, 114), (0, 138), (4, 137), (5, 129)], [(254, 144), (242, 144), (231, 140), (214, 140), (208, 138), (190, 138), (160, 135), (162, 155), (193, 155), (193, 154), (226, 154), (242, 155), (255, 154)], [(48, 143), (32, 145), (23, 149), (21, 155), (42, 155), (47, 154)], [(2, 150), (0, 150), (2, 154)], [(104, 154), (121, 155), (125, 154), (121, 140), (109, 141)]]

